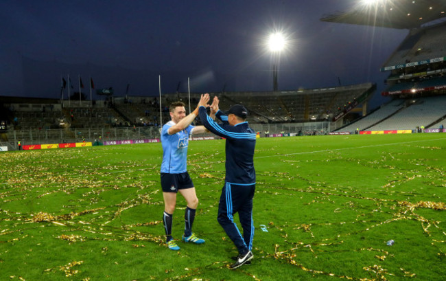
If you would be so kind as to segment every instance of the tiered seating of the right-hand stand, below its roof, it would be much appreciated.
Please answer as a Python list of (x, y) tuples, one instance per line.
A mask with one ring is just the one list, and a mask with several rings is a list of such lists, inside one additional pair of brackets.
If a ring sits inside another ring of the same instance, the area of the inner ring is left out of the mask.
[(445, 22), (412, 28), (381, 69), (390, 71), (382, 95), (392, 102), (338, 131), (438, 128), (446, 115), (445, 46)]

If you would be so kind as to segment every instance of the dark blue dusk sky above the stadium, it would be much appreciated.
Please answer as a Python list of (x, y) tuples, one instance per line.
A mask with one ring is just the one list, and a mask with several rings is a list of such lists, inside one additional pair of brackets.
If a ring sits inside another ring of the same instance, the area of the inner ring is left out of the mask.
[[(89, 93), (272, 90), (274, 30), (290, 43), (279, 61), (279, 90), (376, 82), (408, 30), (321, 22), (360, 0), (30, 1), (0, 3), (0, 95), (60, 98), (61, 76)], [(338, 80), (339, 77), (339, 80)], [(73, 90), (72, 90), (73, 91)], [(95, 98), (95, 97), (93, 97)]]

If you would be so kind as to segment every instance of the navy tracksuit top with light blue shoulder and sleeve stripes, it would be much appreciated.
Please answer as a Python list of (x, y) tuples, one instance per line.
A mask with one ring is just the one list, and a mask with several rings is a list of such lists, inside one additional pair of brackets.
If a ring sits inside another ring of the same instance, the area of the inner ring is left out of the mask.
[(226, 139), (225, 181), (241, 185), (255, 183), (254, 149), (256, 133), (248, 126), (248, 122), (231, 126), (228, 123), (228, 116), (219, 110), (215, 116), (223, 123), (217, 124), (207, 115), (204, 106), (200, 106), (198, 112), (205, 128)]

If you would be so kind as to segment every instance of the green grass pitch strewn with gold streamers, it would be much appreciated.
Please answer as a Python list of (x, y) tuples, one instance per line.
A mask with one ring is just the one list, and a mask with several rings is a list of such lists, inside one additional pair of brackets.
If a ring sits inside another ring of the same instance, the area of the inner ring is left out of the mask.
[[(189, 143), (206, 243), (178, 252), (163, 245), (161, 155), (161, 144), (1, 153), (0, 280), (445, 278), (446, 134), (258, 139), (255, 258), (234, 271), (216, 219), (224, 141)], [(178, 196), (178, 240), (184, 210)]]

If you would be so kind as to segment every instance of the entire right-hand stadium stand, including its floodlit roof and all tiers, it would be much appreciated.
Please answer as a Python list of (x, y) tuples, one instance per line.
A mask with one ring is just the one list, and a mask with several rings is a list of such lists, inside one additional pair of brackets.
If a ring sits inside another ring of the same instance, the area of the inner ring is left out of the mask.
[[(364, 9), (368, 5), (373, 9)], [(389, 71), (382, 95), (392, 101), (337, 131), (437, 127), (445, 119), (446, 2), (395, 0), (355, 5), (346, 12), (322, 16), (321, 21), (409, 30), (383, 64)]]

